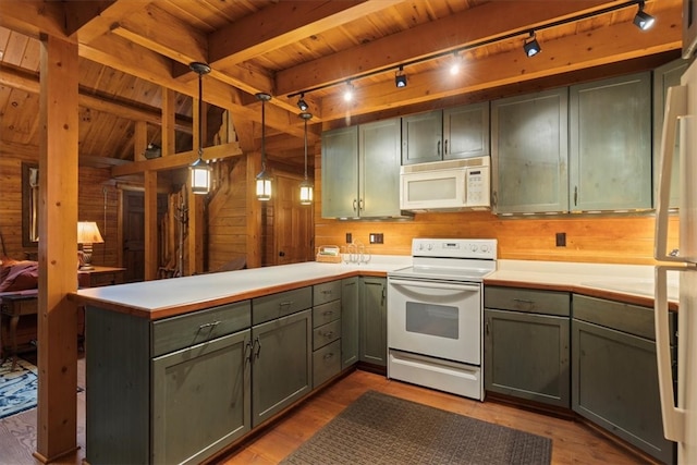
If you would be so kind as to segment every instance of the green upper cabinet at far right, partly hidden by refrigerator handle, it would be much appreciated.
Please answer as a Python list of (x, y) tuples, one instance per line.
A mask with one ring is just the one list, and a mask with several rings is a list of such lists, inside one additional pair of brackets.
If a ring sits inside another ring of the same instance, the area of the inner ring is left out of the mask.
[[(687, 60), (671, 61), (653, 70), (653, 187), (658, 192), (658, 175), (660, 173), (661, 144), (663, 143), (663, 117), (665, 110), (665, 97), (668, 88), (680, 85), (680, 78), (687, 69)], [(680, 137), (675, 134), (675, 155), (677, 155)], [(673, 159), (673, 172), (671, 178), (671, 199), (669, 207), (677, 208), (680, 204), (680, 188), (677, 185), (678, 162)], [(655, 196), (655, 199), (657, 197)], [(656, 204), (653, 205), (656, 207)]]

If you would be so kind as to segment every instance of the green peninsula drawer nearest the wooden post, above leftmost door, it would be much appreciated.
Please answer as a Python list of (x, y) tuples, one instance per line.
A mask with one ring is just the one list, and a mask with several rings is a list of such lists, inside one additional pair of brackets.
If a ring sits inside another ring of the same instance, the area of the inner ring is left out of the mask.
[(154, 357), (188, 347), (250, 326), (249, 301), (221, 305), (152, 323), (151, 355)]

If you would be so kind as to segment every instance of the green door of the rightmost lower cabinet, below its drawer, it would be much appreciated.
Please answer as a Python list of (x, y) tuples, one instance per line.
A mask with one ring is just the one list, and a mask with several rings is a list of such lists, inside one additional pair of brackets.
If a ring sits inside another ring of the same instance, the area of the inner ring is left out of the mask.
[(576, 319), (572, 341), (573, 409), (675, 463), (675, 445), (663, 437), (653, 341)]

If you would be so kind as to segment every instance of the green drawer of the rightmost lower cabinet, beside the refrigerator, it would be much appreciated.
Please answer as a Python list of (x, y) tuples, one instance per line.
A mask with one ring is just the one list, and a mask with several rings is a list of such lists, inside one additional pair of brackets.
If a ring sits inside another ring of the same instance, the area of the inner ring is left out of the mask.
[[(653, 308), (574, 294), (574, 318), (656, 340)], [(676, 314), (669, 314), (671, 345), (676, 343)]]

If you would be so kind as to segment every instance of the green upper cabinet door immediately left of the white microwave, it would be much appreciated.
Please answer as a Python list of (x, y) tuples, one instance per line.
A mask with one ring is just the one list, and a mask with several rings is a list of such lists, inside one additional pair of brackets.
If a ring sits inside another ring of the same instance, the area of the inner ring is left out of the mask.
[(400, 120), (358, 126), (360, 216), (400, 215)]

